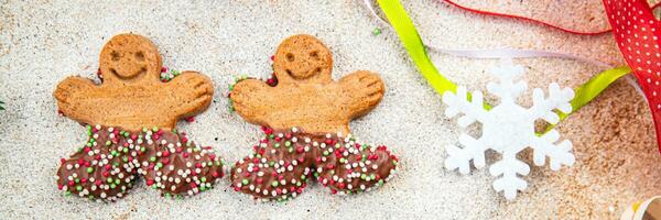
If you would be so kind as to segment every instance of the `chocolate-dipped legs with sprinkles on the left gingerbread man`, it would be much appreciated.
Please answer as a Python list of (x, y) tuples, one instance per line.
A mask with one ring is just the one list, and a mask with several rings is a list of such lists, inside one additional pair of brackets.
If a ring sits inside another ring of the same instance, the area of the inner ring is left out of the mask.
[(209, 189), (223, 177), (223, 162), (213, 150), (189, 141), (185, 133), (159, 128), (128, 132), (87, 125), (88, 142), (62, 158), (57, 186), (65, 195), (116, 200), (138, 176), (163, 196), (191, 196)]

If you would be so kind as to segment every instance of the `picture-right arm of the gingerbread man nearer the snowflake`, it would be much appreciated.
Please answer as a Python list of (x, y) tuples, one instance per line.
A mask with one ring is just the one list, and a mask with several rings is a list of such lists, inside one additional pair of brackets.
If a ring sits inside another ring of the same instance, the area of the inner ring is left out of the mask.
[(350, 108), (346, 110), (348, 118), (356, 118), (372, 110), (383, 98), (386, 86), (379, 75), (359, 70), (343, 77), (338, 86), (344, 94), (344, 103)]

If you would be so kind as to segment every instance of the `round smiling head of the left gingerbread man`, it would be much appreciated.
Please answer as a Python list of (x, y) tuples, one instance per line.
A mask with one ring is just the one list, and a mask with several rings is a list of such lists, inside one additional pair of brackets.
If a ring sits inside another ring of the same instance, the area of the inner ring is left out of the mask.
[(161, 55), (156, 46), (144, 36), (120, 34), (113, 36), (101, 51), (99, 68), (108, 82), (126, 82), (144, 79), (159, 79)]

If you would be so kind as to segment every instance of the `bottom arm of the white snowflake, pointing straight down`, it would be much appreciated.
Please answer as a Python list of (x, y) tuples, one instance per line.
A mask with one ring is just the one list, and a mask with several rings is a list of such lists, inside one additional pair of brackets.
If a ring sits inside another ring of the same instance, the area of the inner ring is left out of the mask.
[(502, 177), (494, 182), (496, 191), (503, 191), (508, 200), (517, 198), (517, 191), (528, 187), (528, 183), (518, 175), (528, 175), (530, 167), (528, 164), (517, 160), (518, 152), (507, 151), (502, 154), (502, 160), (496, 162), (489, 167), (491, 176)]

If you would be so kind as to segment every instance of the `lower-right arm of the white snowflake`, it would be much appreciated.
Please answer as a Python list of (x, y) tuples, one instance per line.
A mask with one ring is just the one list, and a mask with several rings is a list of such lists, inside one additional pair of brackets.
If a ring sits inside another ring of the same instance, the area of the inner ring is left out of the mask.
[(543, 166), (549, 157), (552, 170), (557, 170), (562, 165), (571, 166), (575, 162), (572, 154), (572, 142), (564, 140), (557, 145), (554, 144), (560, 139), (560, 133), (556, 130), (551, 130), (543, 136), (535, 136), (533, 143), (530, 143), (534, 153), (534, 165)]

